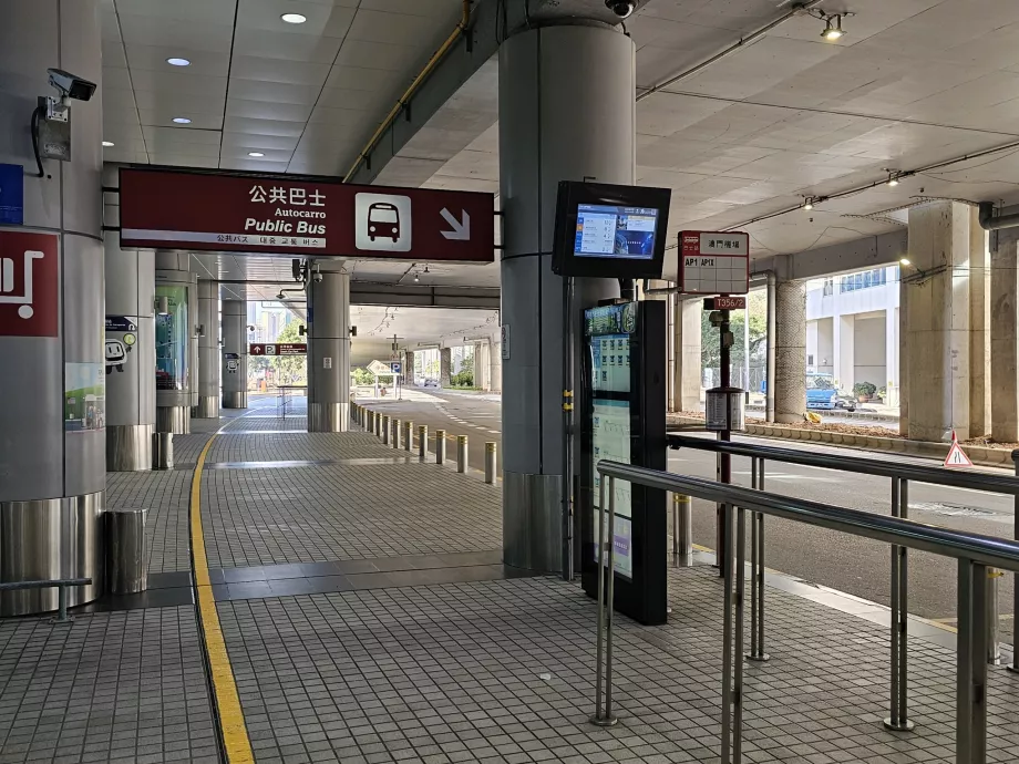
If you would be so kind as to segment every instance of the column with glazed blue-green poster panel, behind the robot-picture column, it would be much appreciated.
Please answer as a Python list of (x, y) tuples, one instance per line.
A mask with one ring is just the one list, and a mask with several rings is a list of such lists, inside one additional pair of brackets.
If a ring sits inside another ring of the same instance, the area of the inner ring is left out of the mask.
[(156, 432), (187, 434), (197, 405), (197, 286), (191, 256), (157, 251)]

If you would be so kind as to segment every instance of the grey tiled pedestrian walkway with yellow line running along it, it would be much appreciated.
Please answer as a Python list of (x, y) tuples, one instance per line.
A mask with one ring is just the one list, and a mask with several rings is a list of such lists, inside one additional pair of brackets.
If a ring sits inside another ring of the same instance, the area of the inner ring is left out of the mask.
[[(595, 605), (501, 565), (498, 486), (295, 430), (300, 404), (226, 413), (173, 472), (109, 475), (111, 505), (151, 509), (148, 592), (0, 621), (0, 762), (719, 761), (707, 561), (670, 569), (668, 624), (617, 620), (620, 722), (596, 727)], [(916, 731), (889, 733), (887, 610), (781, 577), (766, 601), (744, 762), (955, 761), (950, 633), (910, 640)], [(988, 706), (988, 761), (1019, 760), (1019, 679), (992, 669)]]

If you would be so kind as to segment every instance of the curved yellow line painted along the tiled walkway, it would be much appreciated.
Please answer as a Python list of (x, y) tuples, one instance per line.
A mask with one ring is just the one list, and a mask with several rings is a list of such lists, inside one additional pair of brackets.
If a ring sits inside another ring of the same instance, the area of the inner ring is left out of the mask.
[[(237, 419), (240, 417), (238, 416)], [(198, 461), (195, 464), (191, 495), (192, 565), (195, 571), (195, 588), (198, 596), (198, 624), (205, 636), (205, 652), (213, 674), (216, 716), (223, 735), (223, 747), (225, 748), (228, 764), (248, 764), (255, 761), (255, 756), (251, 753), (248, 729), (244, 723), (244, 712), (240, 710), (240, 696), (237, 694), (234, 670), (230, 668), (230, 657), (227, 653), (223, 629), (219, 626), (216, 599), (213, 596), (212, 581), (208, 575), (205, 535), (202, 531), (202, 472), (205, 466), (205, 457), (208, 455), (216, 437), (231, 422), (224, 424), (213, 434), (202, 453), (198, 454)]]

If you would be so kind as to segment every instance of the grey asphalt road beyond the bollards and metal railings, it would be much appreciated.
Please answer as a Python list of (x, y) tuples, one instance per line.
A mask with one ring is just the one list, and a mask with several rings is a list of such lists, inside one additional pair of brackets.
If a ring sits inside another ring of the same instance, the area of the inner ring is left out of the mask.
[[(419, 396), (414, 393), (424, 393)], [(484, 466), (484, 442), (501, 441), (501, 410), (497, 396), (459, 393), (446, 390), (422, 389), (410, 391), (409, 396), (422, 400), (403, 402), (375, 402), (373, 407), (401, 419), (428, 424), (434, 436), (436, 427), (445, 429), (450, 437), (470, 436), (472, 467)], [(774, 445), (763, 438), (743, 441)], [(860, 454), (850, 448), (837, 448), (797, 443), (784, 444), (792, 448), (806, 447), (816, 453)], [(453, 442), (447, 452), (452, 457)], [(876, 455), (884, 457), (882, 455)], [(886, 458), (902, 461), (900, 455)], [(936, 464), (929, 460), (915, 460)], [(713, 479), (716, 457), (700, 451), (669, 452), (669, 469)], [(500, 460), (500, 469), (502, 461)], [(732, 464), (733, 481), (750, 485), (750, 461), (735, 457)], [(988, 471), (992, 472), (992, 471)], [(769, 464), (766, 488), (789, 496), (824, 502), (876, 514), (891, 514), (891, 481), (872, 475), (854, 475), (816, 467)], [(693, 539), (696, 544), (714, 548), (714, 506), (696, 500), (693, 512)], [(963, 488), (910, 484), (909, 516), (923, 523), (989, 536), (1012, 538), (1016, 517), (1013, 499), (999, 494), (985, 494)], [(887, 545), (838, 534), (801, 523), (768, 519), (765, 528), (765, 565), (807, 581), (847, 591), (869, 600), (889, 603), (888, 581), (891, 551)], [(1000, 580), (999, 606), (1002, 639), (1011, 639), (1012, 579)], [(956, 612), (956, 564), (948, 558), (924, 553), (909, 556), (909, 611), (925, 618), (954, 622)]]

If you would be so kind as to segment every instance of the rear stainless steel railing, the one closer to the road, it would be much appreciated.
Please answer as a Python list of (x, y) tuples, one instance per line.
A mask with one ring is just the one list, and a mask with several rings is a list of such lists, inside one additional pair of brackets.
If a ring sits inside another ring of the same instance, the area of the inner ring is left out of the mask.
[[(838, 469), (864, 475), (888, 477), (892, 481), (891, 509), (893, 517), (907, 518), (909, 515), (909, 482), (930, 483), (934, 485), (948, 485), (957, 488), (984, 491), (990, 493), (1009, 494), (1015, 497), (1016, 504), (1016, 533), (1019, 539), (1019, 481), (1010, 475), (994, 475), (977, 472), (958, 472), (944, 467), (928, 466), (910, 462), (892, 462), (888, 460), (872, 458), (867, 456), (850, 456), (846, 454), (816, 453), (795, 448), (776, 446), (762, 446), (740, 443), (739, 441), (714, 441), (690, 435), (670, 433), (669, 447), (697, 448), (716, 454), (725, 453), (731, 456), (747, 456), (750, 458), (750, 485), (752, 488), (764, 489), (764, 462), (781, 462), (784, 464), (799, 464), (824, 469)], [(1012, 452), (1016, 461), (1016, 474), (1019, 475), (1019, 451)], [(751, 516), (751, 648), (748, 658), (756, 661), (768, 660), (764, 652), (764, 518), (754, 513)], [(997, 610), (997, 591), (999, 577), (996, 571), (990, 574), (988, 597), (994, 602), (992, 609)], [(907, 683), (907, 641), (909, 633), (909, 576), (908, 556), (904, 546), (892, 547), (892, 682), (889, 715), (885, 719), (885, 726), (889, 730), (913, 730), (914, 724), (908, 714), (908, 683)], [(1019, 613), (1019, 581), (1015, 586), (1015, 612)], [(987, 658), (998, 662), (998, 619), (989, 623), (987, 631)], [(1019, 671), (1019, 642), (1016, 630), (1012, 634), (1012, 662), (1010, 671)]]

